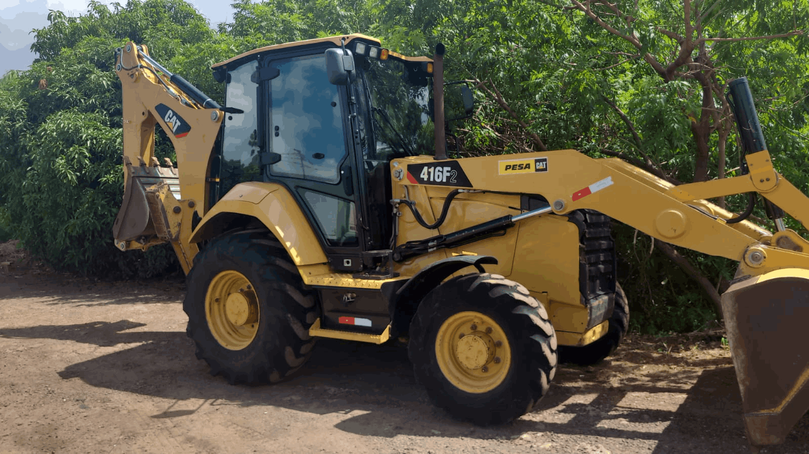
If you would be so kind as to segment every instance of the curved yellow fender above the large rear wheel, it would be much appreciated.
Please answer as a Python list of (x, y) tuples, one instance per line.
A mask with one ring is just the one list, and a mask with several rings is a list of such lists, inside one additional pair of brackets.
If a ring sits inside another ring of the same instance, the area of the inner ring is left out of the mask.
[(214, 238), (227, 229), (227, 221), (250, 216), (264, 224), (286, 248), (296, 266), (326, 263), (315, 232), (298, 202), (277, 183), (239, 183), (202, 218), (191, 234), (192, 243)]

